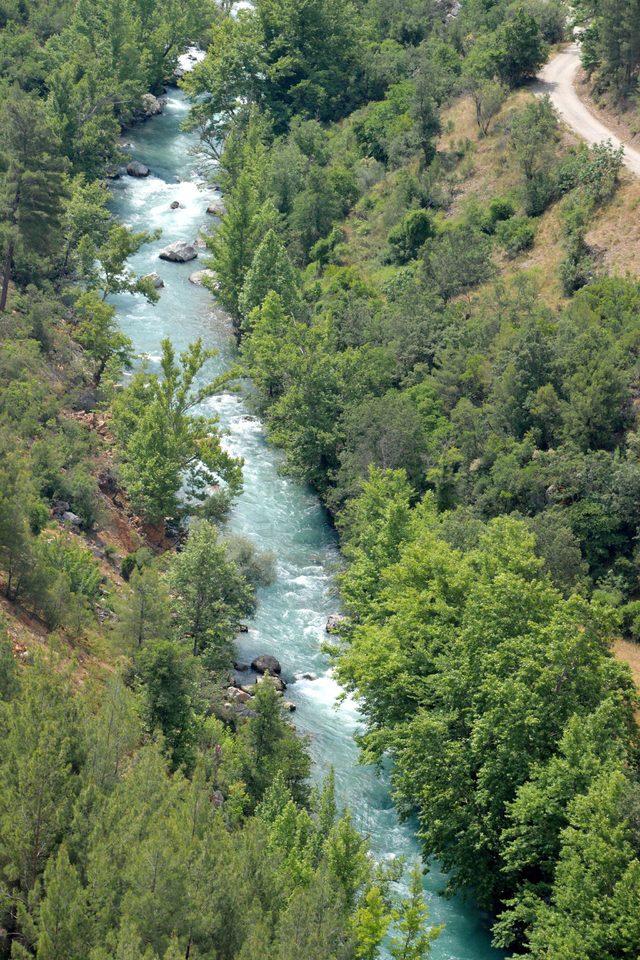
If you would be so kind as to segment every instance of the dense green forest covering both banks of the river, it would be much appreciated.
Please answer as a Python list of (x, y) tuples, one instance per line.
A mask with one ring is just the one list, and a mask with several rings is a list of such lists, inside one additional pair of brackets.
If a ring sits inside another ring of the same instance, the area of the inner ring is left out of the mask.
[[(529, 92), (568, 13), (0, 2), (1, 585), (46, 636), (0, 647), (2, 956), (374, 960), (386, 938), (421, 960), (438, 934), (420, 871), (399, 903), (331, 778), (309, 786), (278, 678), (229, 703), (274, 577), (225, 531), (242, 462), (201, 412), (238, 385), (335, 522), (336, 675), (425, 858), (511, 953), (640, 953), (612, 648), (640, 641), (640, 284), (590, 239), (621, 152)], [(572, 16), (594, 91), (631, 99), (636, 0)], [(159, 297), (128, 266), (155, 235), (107, 184), (190, 43), (185, 126), (224, 193), (205, 282), (238, 349), (216, 378), (199, 341), (140, 363), (110, 299)], [(124, 556), (96, 550), (107, 503), (140, 534)]]

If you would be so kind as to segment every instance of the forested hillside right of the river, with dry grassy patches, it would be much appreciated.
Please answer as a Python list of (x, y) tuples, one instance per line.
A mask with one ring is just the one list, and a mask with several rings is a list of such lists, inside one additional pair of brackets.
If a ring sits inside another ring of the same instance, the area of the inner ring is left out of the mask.
[[(578, 13), (633, 86), (635, 5)], [(498, 944), (598, 960), (640, 950), (640, 286), (591, 240), (621, 154), (527, 91), (566, 14), (258, 0), (186, 86), (256, 405), (341, 534), (365, 756)]]

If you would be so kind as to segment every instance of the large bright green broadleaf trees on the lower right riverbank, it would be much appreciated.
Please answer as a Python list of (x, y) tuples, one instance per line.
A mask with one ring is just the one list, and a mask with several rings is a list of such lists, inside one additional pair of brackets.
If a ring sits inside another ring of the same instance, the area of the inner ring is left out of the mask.
[[(347, 526), (352, 623), (338, 676), (367, 719), (366, 755), (392, 754), (425, 852), (452, 887), (508, 908), (503, 945), (531, 935), (544, 950), (550, 934), (532, 896), (571, 902), (563, 830), (591, 784), (633, 756), (631, 679), (609, 652), (606, 609), (551, 586), (524, 524), (491, 521), (463, 552), (441, 538), (429, 499), (411, 513), (400, 498), (383, 520), (371, 509), (400, 479), (373, 476)], [(583, 889), (582, 901), (595, 919), (598, 892)]]

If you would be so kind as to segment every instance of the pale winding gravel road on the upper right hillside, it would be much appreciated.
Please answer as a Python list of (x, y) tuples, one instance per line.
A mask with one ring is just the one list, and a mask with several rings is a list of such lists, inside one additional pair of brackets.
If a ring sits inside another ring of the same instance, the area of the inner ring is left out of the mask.
[(574, 81), (580, 66), (578, 45), (572, 43), (550, 60), (540, 71), (536, 92), (548, 93), (551, 101), (565, 121), (587, 143), (601, 143), (611, 140), (615, 147), (624, 147), (624, 163), (636, 176), (640, 177), (640, 150), (628, 146), (620, 137), (589, 110), (582, 102)]

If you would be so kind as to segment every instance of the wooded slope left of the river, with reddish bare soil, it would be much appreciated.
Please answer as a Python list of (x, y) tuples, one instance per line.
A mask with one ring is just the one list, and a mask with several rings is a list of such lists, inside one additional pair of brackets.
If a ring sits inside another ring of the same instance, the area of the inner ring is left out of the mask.
[(284, 683), (265, 668), (249, 693), (234, 685), (234, 638), (274, 558), (219, 525), (242, 462), (195, 408), (223, 381), (200, 341), (141, 363), (111, 302), (159, 296), (128, 265), (155, 234), (110, 210), (121, 134), (162, 109), (178, 56), (220, 20), (208, 0), (0, 5), (13, 960), (373, 960), (387, 933), (394, 956), (422, 957), (438, 932), (420, 871), (400, 904), (401, 864), (369, 855), (331, 777), (311, 787)]

